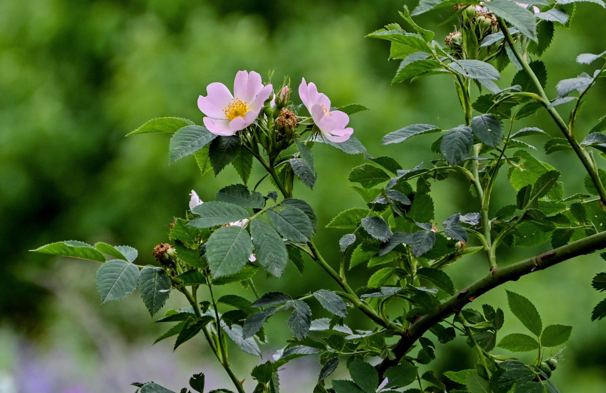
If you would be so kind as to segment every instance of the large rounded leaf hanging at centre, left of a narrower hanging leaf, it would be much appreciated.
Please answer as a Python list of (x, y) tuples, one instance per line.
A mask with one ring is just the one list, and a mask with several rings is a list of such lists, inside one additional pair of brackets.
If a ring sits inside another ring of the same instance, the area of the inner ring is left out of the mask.
[(250, 235), (239, 226), (221, 227), (206, 242), (206, 258), (213, 278), (238, 273), (248, 262), (251, 252)]

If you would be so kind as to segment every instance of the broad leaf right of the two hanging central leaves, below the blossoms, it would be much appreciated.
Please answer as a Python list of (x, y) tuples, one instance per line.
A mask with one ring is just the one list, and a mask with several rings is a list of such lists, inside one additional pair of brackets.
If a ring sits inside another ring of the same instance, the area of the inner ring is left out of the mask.
[(282, 237), (293, 243), (307, 243), (313, 235), (309, 217), (294, 206), (278, 206), (267, 210), (267, 217)]

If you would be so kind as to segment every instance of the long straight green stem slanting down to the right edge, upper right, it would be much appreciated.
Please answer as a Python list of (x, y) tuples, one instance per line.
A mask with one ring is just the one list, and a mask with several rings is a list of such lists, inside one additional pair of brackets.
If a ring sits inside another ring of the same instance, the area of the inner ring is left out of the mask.
[[(587, 170), (587, 173), (589, 174), (591, 181), (593, 182), (594, 186), (596, 186), (596, 189), (598, 190), (598, 195), (600, 197), (600, 205), (602, 206), (602, 208), (604, 208), (604, 206), (606, 206), (606, 189), (604, 189), (604, 184), (602, 184), (602, 180), (600, 180), (600, 178), (599, 178), (598, 167), (596, 167), (592, 163), (591, 156), (589, 155), (587, 150), (583, 149), (583, 147), (581, 147), (581, 145), (578, 143), (578, 141), (576, 140), (576, 138), (574, 136), (573, 130), (567, 126), (564, 119), (562, 119), (562, 117), (558, 113), (558, 110), (556, 110), (554, 107), (551, 107), (551, 108), (549, 107), (550, 101), (547, 98), (547, 95), (545, 94), (545, 90), (541, 86), (541, 82), (539, 81), (537, 76), (534, 74), (534, 71), (528, 65), (528, 62), (526, 61), (524, 56), (522, 56), (519, 53), (518, 48), (514, 44), (513, 38), (511, 37), (509, 30), (507, 29), (507, 25), (505, 24), (505, 21), (499, 17), (497, 17), (497, 19), (499, 21), (499, 27), (501, 27), (501, 31), (503, 32), (503, 34), (505, 36), (505, 41), (508, 42), (508, 44), (511, 48), (511, 51), (513, 52), (514, 56), (516, 56), (516, 59), (518, 59), (519, 63), (522, 66), (522, 69), (524, 70), (525, 73), (527, 73), (528, 77), (533, 82), (534, 88), (539, 92), (539, 96), (541, 98), (541, 103), (545, 106), (545, 109), (547, 109), (547, 112), (549, 112), (549, 114), (551, 115), (551, 118), (553, 118), (553, 121), (556, 123), (556, 125), (559, 127), (559, 129), (562, 131), (562, 133), (564, 134), (568, 143), (570, 143), (570, 146), (573, 148), (574, 153), (576, 153), (579, 160), (581, 160), (581, 163), (585, 167), (585, 170)], [(571, 119), (571, 121), (573, 121), (573, 119)]]

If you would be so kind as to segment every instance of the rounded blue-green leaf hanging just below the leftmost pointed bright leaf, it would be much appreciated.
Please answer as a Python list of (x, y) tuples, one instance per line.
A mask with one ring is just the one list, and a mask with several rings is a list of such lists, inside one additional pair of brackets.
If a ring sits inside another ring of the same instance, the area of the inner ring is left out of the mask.
[(101, 303), (124, 299), (137, 287), (139, 268), (122, 260), (111, 260), (99, 266), (96, 274)]

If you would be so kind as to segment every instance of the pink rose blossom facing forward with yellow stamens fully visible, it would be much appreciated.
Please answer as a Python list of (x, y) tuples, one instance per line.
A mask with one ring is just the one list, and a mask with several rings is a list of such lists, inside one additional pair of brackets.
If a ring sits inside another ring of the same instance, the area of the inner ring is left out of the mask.
[(271, 84), (263, 86), (261, 75), (254, 71), (238, 71), (233, 96), (224, 84), (209, 84), (208, 95), (198, 97), (198, 108), (207, 116), (204, 126), (216, 135), (235, 135), (255, 122), (271, 91)]

